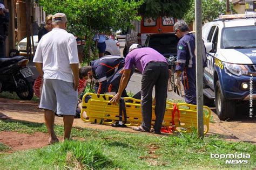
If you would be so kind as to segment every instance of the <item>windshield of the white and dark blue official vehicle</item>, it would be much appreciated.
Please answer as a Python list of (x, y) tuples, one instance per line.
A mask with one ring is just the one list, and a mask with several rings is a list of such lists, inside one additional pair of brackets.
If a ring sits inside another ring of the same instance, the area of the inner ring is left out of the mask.
[(256, 48), (256, 26), (223, 29), (221, 48)]

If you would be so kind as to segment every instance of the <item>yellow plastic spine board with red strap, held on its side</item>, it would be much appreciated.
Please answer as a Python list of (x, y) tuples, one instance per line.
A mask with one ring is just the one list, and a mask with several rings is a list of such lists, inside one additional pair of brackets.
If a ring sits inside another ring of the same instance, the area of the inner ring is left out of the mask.
[[(90, 95), (91, 98), (85, 103), (85, 97)], [(119, 121), (119, 105), (113, 105), (109, 103), (112, 95), (97, 95), (92, 93), (86, 93), (83, 96), (81, 119), (84, 122), (100, 123), (105, 125), (111, 125), (115, 121)], [(136, 100), (131, 97), (124, 97), (124, 100), (130, 100), (132, 102), (125, 102), (127, 126), (139, 126), (142, 122), (142, 110), (140, 100)], [(172, 126), (172, 111), (174, 104), (166, 102), (166, 110), (163, 121), (163, 126)], [(174, 116), (174, 123), (177, 131), (181, 131), (180, 128), (186, 128), (184, 132), (191, 132), (192, 128), (197, 129), (197, 105), (179, 103), (177, 107), (180, 111), (180, 122), (178, 113)], [(156, 119), (154, 115), (154, 106), (152, 107), (152, 125)], [(83, 112), (86, 111), (87, 118), (83, 117)], [(204, 106), (204, 133), (209, 130), (211, 110)], [(123, 119), (124, 120), (124, 119)]]

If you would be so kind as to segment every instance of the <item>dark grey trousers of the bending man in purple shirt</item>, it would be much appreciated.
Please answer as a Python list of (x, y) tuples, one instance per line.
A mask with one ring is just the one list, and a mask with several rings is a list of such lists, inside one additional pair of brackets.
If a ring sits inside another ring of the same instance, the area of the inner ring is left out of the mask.
[(168, 65), (165, 62), (150, 62), (144, 69), (141, 90), (143, 117), (142, 126), (146, 131), (150, 131), (151, 128), (152, 90), (154, 86), (156, 89), (156, 107), (154, 111), (156, 120), (154, 123), (154, 131), (159, 133), (161, 130), (166, 107), (168, 79)]

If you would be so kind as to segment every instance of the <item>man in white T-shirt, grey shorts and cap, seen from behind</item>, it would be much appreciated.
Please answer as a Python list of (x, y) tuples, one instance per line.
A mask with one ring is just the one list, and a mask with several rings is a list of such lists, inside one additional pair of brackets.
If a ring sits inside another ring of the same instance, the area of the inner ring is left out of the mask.
[(52, 16), (53, 29), (39, 41), (33, 58), (44, 80), (39, 108), (44, 109), (49, 144), (58, 142), (54, 131), (55, 112), (63, 115), (64, 139), (70, 139), (76, 115), (79, 60), (76, 38), (66, 31), (67, 22), (64, 13)]

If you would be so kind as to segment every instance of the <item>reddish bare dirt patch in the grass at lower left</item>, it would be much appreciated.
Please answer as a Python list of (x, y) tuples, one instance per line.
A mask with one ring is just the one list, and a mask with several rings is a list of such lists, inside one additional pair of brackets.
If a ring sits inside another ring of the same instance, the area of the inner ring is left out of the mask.
[(48, 138), (48, 134), (40, 132), (33, 134), (0, 132), (0, 142), (11, 147), (9, 152), (48, 146)]

